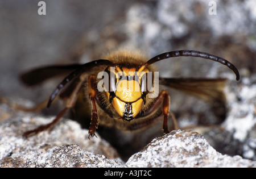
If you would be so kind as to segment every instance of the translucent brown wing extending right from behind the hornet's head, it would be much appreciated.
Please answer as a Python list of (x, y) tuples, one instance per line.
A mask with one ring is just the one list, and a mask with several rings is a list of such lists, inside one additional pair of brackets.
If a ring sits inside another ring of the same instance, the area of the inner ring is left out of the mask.
[(225, 78), (159, 78), (159, 84), (194, 95), (209, 103), (225, 102)]

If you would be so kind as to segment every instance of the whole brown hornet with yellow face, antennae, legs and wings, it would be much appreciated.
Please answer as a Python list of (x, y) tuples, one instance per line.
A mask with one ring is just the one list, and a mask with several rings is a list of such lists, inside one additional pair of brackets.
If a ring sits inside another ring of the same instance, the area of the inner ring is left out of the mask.
[[(104, 59), (92, 61), (84, 65), (71, 66), (49, 66), (46, 68), (36, 69), (32, 72), (28, 72), (22, 76), (23, 81), (27, 81), (36, 74), (43, 73), (48, 70), (48, 76), (40, 78), (38, 82), (42, 82), (46, 78), (55, 76), (55, 70), (75, 70), (69, 74), (53, 91), (47, 107), (51, 105), (51, 102), (55, 97), (59, 95), (61, 99), (67, 99), (65, 108), (57, 115), (56, 119), (52, 123), (46, 126), (40, 126), (32, 131), (27, 131), (24, 136), (30, 136), (37, 134), (40, 131), (47, 130), (52, 127), (60, 118), (66, 113), (68, 109), (75, 111), (77, 118), (88, 119), (90, 118), (89, 134), (88, 137), (93, 137), (96, 132), (96, 128), (99, 125), (107, 127), (115, 127), (122, 131), (138, 131), (146, 130), (150, 126), (154, 126), (155, 122), (159, 119), (163, 120), (162, 130), (164, 134), (169, 132), (167, 119), (168, 116), (172, 118), (171, 129), (176, 129), (176, 120), (174, 115), (170, 113), (170, 96), (168, 92), (162, 88), (162, 86), (156, 86), (154, 81), (154, 87), (159, 88), (158, 96), (154, 98), (148, 98), (151, 91), (136, 92), (134, 89), (127, 88), (122, 89), (121, 92), (107, 92), (99, 91), (97, 88), (101, 78), (97, 78), (99, 72), (109, 72), (110, 66), (115, 68), (115, 75), (117, 72), (121, 72), (122, 76), (127, 76), (128, 73), (155, 72), (154, 66), (151, 64), (168, 59), (170, 57), (177, 56), (195, 56), (204, 59), (217, 61), (221, 64), (228, 66), (236, 73), (237, 80), (240, 76), (238, 70), (234, 65), (227, 60), (220, 57), (210, 55), (208, 53), (199, 51), (172, 51), (160, 54), (148, 60), (141, 55), (134, 53), (127, 53), (123, 51), (117, 51), (105, 56)], [(51, 75), (52, 71), (52, 75)], [(117, 82), (121, 82), (122, 76), (119, 76)], [(130, 77), (130, 76), (129, 76)], [(130, 78), (127, 78), (130, 79)], [(36, 84), (34, 80), (34, 84)], [(111, 81), (111, 80), (110, 80)], [(139, 86), (139, 90), (142, 89), (142, 77), (139, 76), (139, 80), (127, 80), (127, 84), (134, 82)], [(224, 88), (225, 79), (183, 79), (183, 78), (159, 78), (159, 84), (170, 86), (172, 88), (184, 91), (192, 95), (196, 95), (201, 99), (205, 99), (208, 102), (225, 101), (225, 96), (222, 93)], [(29, 84), (29, 82), (27, 82)], [(68, 84), (68, 85), (67, 85)], [(64, 90), (61, 89), (67, 86)], [(115, 90), (118, 87), (114, 87)], [(124, 93), (127, 92), (127, 95)], [(170, 115), (171, 114), (171, 115)]]

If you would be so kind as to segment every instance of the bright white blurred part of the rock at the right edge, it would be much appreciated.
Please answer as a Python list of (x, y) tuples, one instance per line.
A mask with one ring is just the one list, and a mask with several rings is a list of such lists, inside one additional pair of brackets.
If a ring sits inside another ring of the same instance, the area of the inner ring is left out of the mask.
[[(222, 124), (234, 132), (234, 138), (245, 141), (248, 134), (255, 131), (256, 124), (256, 75), (242, 77), (240, 83), (229, 81), (226, 86), (228, 117)], [(253, 136), (252, 136), (253, 137)], [(255, 138), (255, 135), (254, 135)]]

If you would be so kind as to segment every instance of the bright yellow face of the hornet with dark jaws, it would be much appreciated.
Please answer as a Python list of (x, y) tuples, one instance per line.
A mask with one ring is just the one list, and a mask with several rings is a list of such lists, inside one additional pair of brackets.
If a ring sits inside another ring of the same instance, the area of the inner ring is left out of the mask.
[[(117, 70), (119, 72), (121, 69)], [(143, 106), (140, 79), (134, 79), (135, 68), (122, 68), (122, 78), (117, 80), (112, 105), (123, 120), (132, 120)], [(110, 94), (106, 92), (108, 98)]]

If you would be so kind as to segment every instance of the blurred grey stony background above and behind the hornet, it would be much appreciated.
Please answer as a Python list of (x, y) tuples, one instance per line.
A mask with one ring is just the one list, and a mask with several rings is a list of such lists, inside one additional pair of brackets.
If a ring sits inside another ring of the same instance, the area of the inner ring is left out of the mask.
[[(0, 0), (1, 97), (42, 102), (61, 78), (28, 88), (19, 80), (21, 73), (39, 66), (86, 63), (119, 47), (139, 49), (149, 59), (193, 49), (229, 60), (242, 78), (256, 71), (255, 0), (214, 1), (216, 15), (209, 14), (208, 0), (44, 1), (46, 15), (38, 14), (38, 2)], [(236, 78), (224, 65), (192, 57), (156, 66), (162, 77)], [(193, 97), (174, 92), (171, 101), (178, 119), (215, 120), (210, 111), (205, 114), (210, 107)]]

